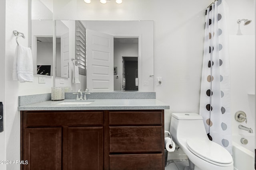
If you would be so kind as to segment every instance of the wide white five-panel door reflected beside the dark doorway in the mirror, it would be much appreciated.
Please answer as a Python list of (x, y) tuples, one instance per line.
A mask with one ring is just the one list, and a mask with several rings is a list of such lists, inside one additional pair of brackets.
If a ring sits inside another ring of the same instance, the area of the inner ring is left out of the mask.
[(114, 90), (114, 37), (86, 29), (87, 86), (90, 91)]

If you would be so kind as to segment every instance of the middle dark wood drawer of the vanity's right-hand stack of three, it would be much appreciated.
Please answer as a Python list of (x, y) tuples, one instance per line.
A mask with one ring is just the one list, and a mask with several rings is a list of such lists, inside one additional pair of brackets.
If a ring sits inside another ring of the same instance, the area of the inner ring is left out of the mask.
[(162, 126), (110, 127), (110, 152), (159, 152)]

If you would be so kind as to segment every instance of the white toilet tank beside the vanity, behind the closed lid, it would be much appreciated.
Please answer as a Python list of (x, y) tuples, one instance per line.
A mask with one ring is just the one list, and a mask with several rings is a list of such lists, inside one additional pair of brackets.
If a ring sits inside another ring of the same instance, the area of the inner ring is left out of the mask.
[[(207, 138), (203, 118), (197, 113), (172, 113), (170, 133), (176, 140), (188, 138)], [(174, 141), (175, 142), (175, 141)]]

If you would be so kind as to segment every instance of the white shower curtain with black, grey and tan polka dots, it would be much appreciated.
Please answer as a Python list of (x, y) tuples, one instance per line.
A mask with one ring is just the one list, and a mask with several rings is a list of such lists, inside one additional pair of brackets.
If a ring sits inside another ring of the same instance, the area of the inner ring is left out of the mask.
[(209, 139), (232, 154), (226, 9), (218, 0), (206, 10), (200, 115)]

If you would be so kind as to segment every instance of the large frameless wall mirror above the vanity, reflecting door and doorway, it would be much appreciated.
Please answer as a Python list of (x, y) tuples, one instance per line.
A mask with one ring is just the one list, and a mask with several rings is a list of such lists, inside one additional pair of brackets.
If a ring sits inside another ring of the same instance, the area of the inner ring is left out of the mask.
[[(31, 1), (41, 2), (37, 4), (48, 2), (43, 8), (50, 6), (50, 0)], [(71, 86), (73, 91), (88, 88), (91, 92), (154, 91), (154, 21), (110, 20), (56, 20), (54, 28), (42, 26), (44, 31), (48, 28), (52, 29), (52, 33), (55, 31), (56, 68), (51, 68), (51, 72), (56, 73), (55, 86)], [(82, 24), (84, 30), (78, 30), (77, 23)], [(32, 39), (35, 37), (34, 29), (37, 27), (32, 24)], [(78, 31), (82, 33), (78, 34)], [(81, 39), (79, 44), (76, 39), (83, 38), (83, 35), (84, 42)], [(50, 36), (41, 34), (41, 37)], [(82, 44), (85, 47), (80, 47)], [(78, 75), (76, 66), (79, 68)], [(81, 74), (81, 68), (84, 68), (84, 74)], [(74, 77), (78, 77), (80, 83), (76, 83)]]

